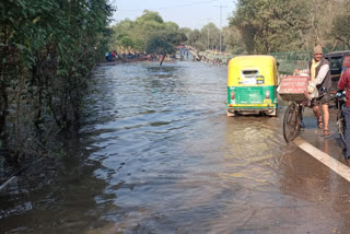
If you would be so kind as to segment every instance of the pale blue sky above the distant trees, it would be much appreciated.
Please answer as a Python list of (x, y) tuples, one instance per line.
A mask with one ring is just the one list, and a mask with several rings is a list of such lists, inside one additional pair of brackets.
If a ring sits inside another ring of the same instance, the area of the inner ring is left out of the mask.
[(165, 22), (191, 30), (200, 30), (209, 22), (217, 27), (228, 26), (235, 5), (234, 0), (110, 0), (110, 3), (117, 9), (112, 25), (127, 17), (135, 21), (143, 10), (150, 10), (159, 12)]

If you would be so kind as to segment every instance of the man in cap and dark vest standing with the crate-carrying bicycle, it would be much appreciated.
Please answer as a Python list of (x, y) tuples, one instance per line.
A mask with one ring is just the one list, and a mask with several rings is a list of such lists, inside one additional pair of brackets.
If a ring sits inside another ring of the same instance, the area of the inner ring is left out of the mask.
[[(296, 70), (294, 73), (300, 73), (301, 71)], [(319, 129), (324, 126), (324, 136), (329, 136), (329, 110), (328, 105), (331, 96), (329, 94), (331, 87), (331, 79), (329, 71), (329, 62), (327, 59), (323, 58), (322, 46), (315, 46), (314, 48), (314, 58), (308, 62), (308, 68), (306, 71), (310, 75), (310, 83), (313, 84), (316, 89), (314, 91), (311, 105), (313, 112), (317, 118), (317, 127)], [(322, 106), (323, 116), (319, 112), (319, 105)], [(323, 119), (324, 118), (324, 119)]]

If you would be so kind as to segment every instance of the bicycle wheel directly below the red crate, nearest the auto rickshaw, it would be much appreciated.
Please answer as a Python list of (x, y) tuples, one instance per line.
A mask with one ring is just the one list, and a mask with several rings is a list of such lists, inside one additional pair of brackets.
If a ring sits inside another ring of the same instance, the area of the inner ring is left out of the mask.
[(292, 103), (287, 107), (283, 118), (283, 137), (287, 142), (295, 139), (299, 130), (299, 106), (295, 103)]

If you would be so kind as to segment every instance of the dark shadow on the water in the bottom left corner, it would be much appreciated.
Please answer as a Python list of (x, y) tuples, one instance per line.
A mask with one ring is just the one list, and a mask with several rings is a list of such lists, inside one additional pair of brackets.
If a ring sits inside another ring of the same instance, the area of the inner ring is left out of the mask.
[(98, 218), (106, 206), (94, 199), (106, 186), (93, 176), (101, 165), (86, 160), (93, 150), (79, 136), (61, 137), (55, 156), (38, 161), (0, 195), (0, 233), (83, 233), (105, 225)]

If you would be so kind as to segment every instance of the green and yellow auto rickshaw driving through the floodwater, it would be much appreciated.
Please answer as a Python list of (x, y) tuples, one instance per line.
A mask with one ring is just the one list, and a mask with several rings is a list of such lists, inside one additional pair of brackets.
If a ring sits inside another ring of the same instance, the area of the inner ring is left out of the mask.
[(277, 62), (272, 56), (237, 56), (229, 62), (228, 116), (277, 116)]

